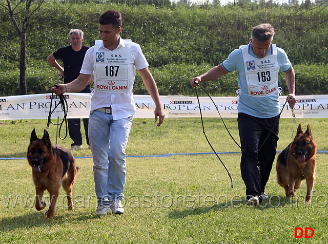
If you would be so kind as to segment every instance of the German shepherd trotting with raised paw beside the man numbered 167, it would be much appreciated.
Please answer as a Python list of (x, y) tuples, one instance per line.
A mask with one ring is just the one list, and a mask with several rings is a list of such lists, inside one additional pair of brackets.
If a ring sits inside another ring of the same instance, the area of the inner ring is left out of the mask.
[(73, 210), (72, 190), (77, 176), (77, 167), (71, 152), (65, 147), (51, 145), (47, 130), (44, 130), (43, 138), (39, 139), (33, 129), (27, 150), (27, 160), (32, 166), (36, 210), (40, 211), (46, 208), (42, 197), (44, 191), (47, 190), (50, 194), (50, 206), (46, 212), (46, 220), (53, 219), (60, 184), (67, 193), (68, 209)]

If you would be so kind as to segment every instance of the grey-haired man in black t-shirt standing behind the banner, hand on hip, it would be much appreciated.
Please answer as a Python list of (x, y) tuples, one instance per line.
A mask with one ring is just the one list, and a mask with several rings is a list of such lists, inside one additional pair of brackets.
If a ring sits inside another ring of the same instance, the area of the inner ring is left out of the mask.
[[(83, 31), (71, 29), (69, 37), (71, 45), (60, 47), (57, 51), (51, 53), (47, 58), (47, 61), (60, 71), (60, 75), (64, 77), (64, 83), (70, 83), (79, 76), (85, 54), (90, 48), (82, 45), (84, 41)], [(63, 61), (64, 68), (57, 63), (58, 59)], [(89, 80), (87, 87), (80, 92), (90, 93), (90, 85), (92, 85), (92, 83), (93, 77)], [(69, 135), (73, 140), (71, 150), (82, 148), (81, 120), (68, 119), (67, 121)], [(89, 119), (83, 119), (83, 124), (86, 131), (86, 140), (89, 145), (88, 123)]]

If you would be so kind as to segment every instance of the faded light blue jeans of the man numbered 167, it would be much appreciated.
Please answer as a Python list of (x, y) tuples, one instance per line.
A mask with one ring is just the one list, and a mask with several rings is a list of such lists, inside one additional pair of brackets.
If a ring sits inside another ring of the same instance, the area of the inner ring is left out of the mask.
[(126, 182), (126, 147), (132, 116), (113, 120), (112, 114), (94, 110), (89, 118), (89, 140), (98, 204), (122, 199)]

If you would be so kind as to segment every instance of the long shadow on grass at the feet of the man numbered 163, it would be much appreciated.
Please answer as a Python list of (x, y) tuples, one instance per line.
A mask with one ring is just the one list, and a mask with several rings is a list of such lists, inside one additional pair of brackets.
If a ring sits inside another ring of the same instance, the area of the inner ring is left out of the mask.
[(226, 211), (232, 211), (233, 209), (253, 209), (255, 211), (265, 211), (268, 209), (276, 209), (276, 208), (298, 208), (302, 207), (299, 204), (295, 204), (293, 201), (293, 198), (286, 198), (286, 197), (280, 197), (280, 196), (274, 196), (275, 198), (271, 198), (269, 200), (262, 201), (259, 205), (247, 205), (247, 202), (245, 200), (242, 200), (241, 202), (219, 202), (218, 204), (215, 204), (211, 207), (203, 206), (198, 208), (192, 208), (192, 209), (183, 209), (183, 210), (174, 210), (171, 213), (169, 213), (169, 218), (185, 218), (188, 216), (193, 215), (202, 215), (209, 213), (211, 211), (220, 211), (220, 212), (226, 212)]

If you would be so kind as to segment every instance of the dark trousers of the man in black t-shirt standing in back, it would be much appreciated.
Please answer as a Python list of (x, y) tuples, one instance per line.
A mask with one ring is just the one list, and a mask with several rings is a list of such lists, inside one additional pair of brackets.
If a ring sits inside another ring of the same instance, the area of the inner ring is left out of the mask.
[[(73, 145), (82, 145), (82, 134), (81, 134), (81, 119), (67, 119), (68, 123), (68, 131), (70, 134), (70, 138), (73, 140)], [(89, 145), (89, 136), (88, 136), (88, 128), (89, 128), (89, 119), (83, 119), (84, 129), (86, 131), (86, 140)]]

